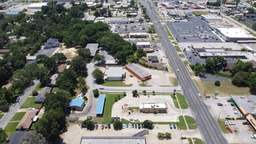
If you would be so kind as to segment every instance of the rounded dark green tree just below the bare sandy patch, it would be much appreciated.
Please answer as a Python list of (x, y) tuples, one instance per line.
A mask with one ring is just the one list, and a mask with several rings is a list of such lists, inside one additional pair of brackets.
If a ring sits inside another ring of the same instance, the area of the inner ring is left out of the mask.
[(79, 76), (87, 75), (86, 62), (81, 56), (76, 56), (75, 58), (73, 58), (73, 60), (71, 61), (71, 69), (73, 69)]

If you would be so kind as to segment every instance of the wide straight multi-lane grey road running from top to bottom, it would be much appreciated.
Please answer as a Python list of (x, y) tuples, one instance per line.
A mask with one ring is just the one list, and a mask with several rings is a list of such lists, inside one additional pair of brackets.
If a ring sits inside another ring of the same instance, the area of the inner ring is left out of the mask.
[(185, 98), (187, 98), (191, 107), (192, 115), (196, 118), (196, 124), (198, 124), (198, 128), (202, 134), (204, 142), (208, 144), (228, 143), (217, 125), (217, 122), (211, 116), (207, 105), (202, 100), (202, 97), (199, 96), (198, 88), (191, 79), (189, 72), (181, 61), (181, 58), (179, 58), (179, 55), (166, 33), (166, 29), (160, 23), (155, 8), (149, 1), (143, 0), (142, 3), (147, 9), (147, 14), (149, 14), (149, 17), (155, 25), (156, 32), (158, 33), (162, 47), (166, 52), (166, 56), (172, 64), (173, 69), (175, 69), (174, 73), (177, 77), (177, 81), (179, 82), (185, 94)]

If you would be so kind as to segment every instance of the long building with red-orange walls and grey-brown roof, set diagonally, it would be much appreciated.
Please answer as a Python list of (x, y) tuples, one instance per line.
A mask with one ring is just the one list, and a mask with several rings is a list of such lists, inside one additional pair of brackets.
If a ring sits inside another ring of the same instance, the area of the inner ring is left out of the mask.
[(136, 63), (128, 63), (127, 65), (125, 65), (125, 69), (130, 71), (130, 73), (135, 75), (140, 81), (146, 81), (148, 79), (151, 79), (151, 74), (145, 71), (141, 66)]

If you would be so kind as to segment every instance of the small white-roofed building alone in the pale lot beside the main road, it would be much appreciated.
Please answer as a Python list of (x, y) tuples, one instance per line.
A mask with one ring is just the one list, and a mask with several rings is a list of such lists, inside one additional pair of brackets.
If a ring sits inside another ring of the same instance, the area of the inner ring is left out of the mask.
[(166, 103), (141, 103), (139, 105), (140, 113), (167, 113)]

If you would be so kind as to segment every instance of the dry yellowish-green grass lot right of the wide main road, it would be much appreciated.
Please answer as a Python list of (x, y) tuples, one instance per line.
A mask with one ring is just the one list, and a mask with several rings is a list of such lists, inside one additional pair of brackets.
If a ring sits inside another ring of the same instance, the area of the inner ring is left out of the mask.
[(206, 96), (214, 96), (215, 92), (219, 92), (219, 96), (250, 95), (249, 88), (234, 86), (230, 81), (221, 82), (221, 86), (215, 86), (214, 82), (195, 82), (200, 92), (205, 92)]

